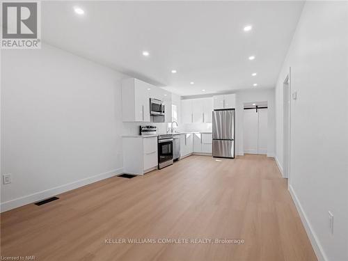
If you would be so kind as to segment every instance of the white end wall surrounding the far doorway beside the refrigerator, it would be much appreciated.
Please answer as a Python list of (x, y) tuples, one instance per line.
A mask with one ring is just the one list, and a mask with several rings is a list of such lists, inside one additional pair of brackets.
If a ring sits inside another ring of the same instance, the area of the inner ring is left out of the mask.
[(246, 102), (267, 102), (268, 106), (268, 128), (267, 128), (267, 156), (274, 157), (275, 154), (275, 105), (274, 88), (241, 90), (236, 93), (236, 153), (244, 155), (244, 103)]

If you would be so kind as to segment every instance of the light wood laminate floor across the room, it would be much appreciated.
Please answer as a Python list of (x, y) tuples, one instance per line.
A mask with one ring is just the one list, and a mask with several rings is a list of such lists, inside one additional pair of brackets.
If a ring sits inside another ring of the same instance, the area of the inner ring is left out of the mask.
[[(191, 156), (1, 214), (1, 255), (36, 260), (317, 260), (274, 159)], [(105, 239), (244, 244), (106, 244)]]

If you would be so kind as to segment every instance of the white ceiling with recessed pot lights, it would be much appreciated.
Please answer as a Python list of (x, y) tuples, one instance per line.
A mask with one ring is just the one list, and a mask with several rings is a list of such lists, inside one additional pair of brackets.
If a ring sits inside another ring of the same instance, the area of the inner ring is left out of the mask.
[(42, 40), (179, 95), (270, 88), (302, 8), (302, 1), (42, 1)]

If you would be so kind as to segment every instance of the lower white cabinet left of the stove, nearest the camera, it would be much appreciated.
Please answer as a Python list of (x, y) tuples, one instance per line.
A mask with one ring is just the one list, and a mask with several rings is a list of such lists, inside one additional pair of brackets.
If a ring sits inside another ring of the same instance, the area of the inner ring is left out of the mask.
[(125, 136), (123, 142), (123, 172), (143, 175), (157, 169), (157, 136)]

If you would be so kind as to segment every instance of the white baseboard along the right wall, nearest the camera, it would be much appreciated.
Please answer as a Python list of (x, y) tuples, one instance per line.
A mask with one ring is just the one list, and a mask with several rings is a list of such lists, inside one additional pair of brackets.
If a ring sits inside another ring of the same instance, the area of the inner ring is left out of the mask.
[(289, 191), (290, 191), (290, 195), (292, 197), (292, 200), (295, 203), (297, 212), (299, 212), (303, 226), (307, 232), (308, 238), (310, 240), (310, 244), (312, 244), (315, 255), (317, 255), (317, 259), (319, 261), (329, 261), (329, 259), (325, 255), (325, 252), (324, 252), (324, 249), (322, 248), (322, 245), (319, 243), (317, 235), (315, 234), (312, 226), (310, 225), (310, 222), (308, 220), (306, 212), (303, 211), (301, 203), (299, 202), (299, 198), (297, 198), (296, 193), (290, 184), (289, 184)]

